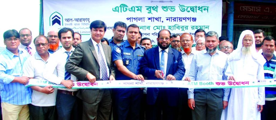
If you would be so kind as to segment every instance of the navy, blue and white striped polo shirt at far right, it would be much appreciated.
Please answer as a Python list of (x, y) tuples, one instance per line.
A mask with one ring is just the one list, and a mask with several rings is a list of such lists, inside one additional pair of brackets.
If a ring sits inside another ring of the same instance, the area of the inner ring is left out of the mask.
[[(263, 53), (262, 53), (263, 55)], [(263, 65), (263, 70), (265, 73), (265, 79), (273, 79), (273, 73), (276, 65), (276, 57), (273, 54), (273, 57)], [(265, 87), (266, 100), (272, 101), (276, 100), (276, 87)]]

